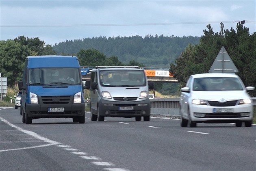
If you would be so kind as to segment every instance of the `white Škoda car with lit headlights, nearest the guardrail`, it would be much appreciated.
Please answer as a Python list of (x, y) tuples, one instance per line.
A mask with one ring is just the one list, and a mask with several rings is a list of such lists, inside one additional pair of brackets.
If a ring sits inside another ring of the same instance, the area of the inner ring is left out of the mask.
[(254, 87), (245, 87), (235, 74), (195, 74), (180, 90), (181, 127), (196, 127), (197, 123), (252, 125), (253, 102), (247, 91)]

